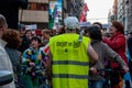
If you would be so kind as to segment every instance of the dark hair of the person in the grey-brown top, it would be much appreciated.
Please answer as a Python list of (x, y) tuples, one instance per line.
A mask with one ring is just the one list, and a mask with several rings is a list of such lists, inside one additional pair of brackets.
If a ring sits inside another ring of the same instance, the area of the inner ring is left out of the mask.
[(97, 40), (99, 42), (102, 41), (102, 34), (98, 26), (96, 26), (96, 25), (88, 26), (86, 30), (89, 33), (89, 37), (91, 40)]

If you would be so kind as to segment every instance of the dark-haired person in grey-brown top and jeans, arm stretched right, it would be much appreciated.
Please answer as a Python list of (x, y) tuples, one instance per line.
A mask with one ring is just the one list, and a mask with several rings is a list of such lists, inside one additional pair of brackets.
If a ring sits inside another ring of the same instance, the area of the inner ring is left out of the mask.
[(103, 88), (105, 78), (99, 75), (97, 70), (105, 68), (106, 59), (119, 63), (125, 72), (129, 68), (114, 51), (112, 51), (107, 44), (102, 43), (102, 34), (98, 26), (94, 25), (85, 29), (85, 35), (91, 38), (91, 45), (99, 56), (98, 63), (90, 67), (89, 88)]

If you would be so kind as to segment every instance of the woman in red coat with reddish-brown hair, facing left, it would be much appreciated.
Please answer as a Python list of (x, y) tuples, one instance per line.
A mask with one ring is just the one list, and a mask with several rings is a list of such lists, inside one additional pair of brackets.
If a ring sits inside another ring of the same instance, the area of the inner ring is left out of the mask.
[[(121, 24), (118, 21), (113, 21), (110, 25), (109, 31), (110, 31), (111, 37), (110, 38), (103, 37), (103, 42), (107, 43), (114, 52), (117, 52), (122, 57), (122, 59), (125, 62), (125, 64), (128, 65), (128, 58), (125, 55), (127, 40), (124, 36), (123, 24)], [(112, 68), (120, 68), (119, 64), (117, 64), (117, 63), (112, 62), (112, 63), (110, 63), (110, 65)], [(111, 78), (112, 88), (120, 88), (118, 85), (120, 81), (116, 81), (118, 76), (119, 76), (119, 74), (113, 73), (112, 78)]]

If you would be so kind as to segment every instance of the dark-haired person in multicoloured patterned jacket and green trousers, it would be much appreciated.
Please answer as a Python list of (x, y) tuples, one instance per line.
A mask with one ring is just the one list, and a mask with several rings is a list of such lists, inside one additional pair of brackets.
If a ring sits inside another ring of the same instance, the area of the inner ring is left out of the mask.
[(31, 46), (26, 48), (23, 53), (23, 78), (25, 80), (25, 88), (37, 88), (38, 76), (36, 73), (36, 67), (41, 66), (41, 55), (40, 55), (41, 40), (37, 36), (31, 38)]

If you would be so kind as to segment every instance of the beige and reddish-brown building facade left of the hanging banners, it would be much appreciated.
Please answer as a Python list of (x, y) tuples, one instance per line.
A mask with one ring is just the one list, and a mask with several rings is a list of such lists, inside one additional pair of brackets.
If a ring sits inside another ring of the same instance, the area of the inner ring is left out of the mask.
[(36, 24), (37, 29), (48, 28), (48, 0), (29, 0), (29, 8), (19, 11), (19, 21), (25, 25)]

